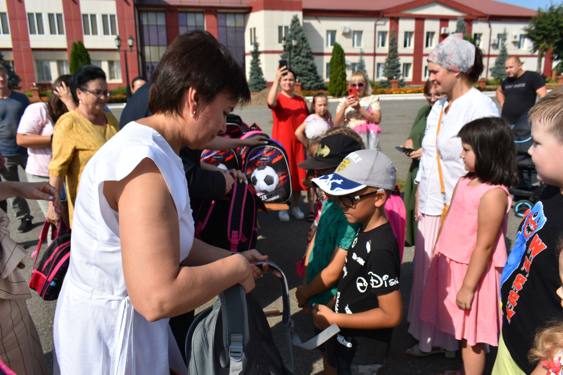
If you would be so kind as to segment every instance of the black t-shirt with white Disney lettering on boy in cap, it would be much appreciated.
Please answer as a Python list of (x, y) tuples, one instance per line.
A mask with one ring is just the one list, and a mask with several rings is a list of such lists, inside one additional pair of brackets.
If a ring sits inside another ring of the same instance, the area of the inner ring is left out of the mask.
[[(363, 313), (379, 307), (378, 294), (399, 289), (399, 245), (391, 224), (358, 234), (348, 249), (336, 292), (337, 313)], [(392, 328), (341, 328), (330, 350), (356, 364), (383, 364), (391, 345)]]

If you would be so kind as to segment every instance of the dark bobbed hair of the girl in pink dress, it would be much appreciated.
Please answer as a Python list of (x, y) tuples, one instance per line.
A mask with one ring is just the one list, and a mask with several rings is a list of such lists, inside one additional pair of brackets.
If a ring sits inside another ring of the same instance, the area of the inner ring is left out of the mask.
[(516, 177), (516, 147), (508, 122), (499, 117), (476, 119), (463, 125), (458, 137), (475, 153), (475, 175), (482, 183), (513, 186)]

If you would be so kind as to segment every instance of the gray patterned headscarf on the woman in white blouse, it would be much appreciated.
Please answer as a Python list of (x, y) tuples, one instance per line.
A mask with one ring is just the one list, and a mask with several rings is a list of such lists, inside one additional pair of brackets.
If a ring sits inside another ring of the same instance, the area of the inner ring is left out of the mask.
[(462, 33), (451, 34), (432, 49), (428, 61), (448, 70), (469, 74), (475, 64), (475, 46), (463, 40)]

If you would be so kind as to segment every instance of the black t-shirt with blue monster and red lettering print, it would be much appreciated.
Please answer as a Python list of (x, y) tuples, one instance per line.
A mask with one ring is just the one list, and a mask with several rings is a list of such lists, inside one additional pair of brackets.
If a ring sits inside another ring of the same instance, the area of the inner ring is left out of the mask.
[(522, 219), (501, 277), (502, 337), (525, 373), (534, 365), (528, 351), (538, 327), (563, 318), (557, 246), (563, 234), (563, 195), (537, 202)]

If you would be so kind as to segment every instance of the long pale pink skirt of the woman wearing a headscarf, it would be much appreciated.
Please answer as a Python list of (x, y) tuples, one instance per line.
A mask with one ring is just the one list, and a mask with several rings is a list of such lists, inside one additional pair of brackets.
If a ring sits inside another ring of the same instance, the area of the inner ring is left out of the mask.
[(458, 350), (459, 343), (455, 337), (437, 329), (433, 324), (418, 318), (422, 302), (422, 291), (425, 286), (430, 256), (438, 231), (440, 230), (440, 216), (420, 214), (416, 246), (414, 247), (413, 288), (410, 292), (409, 333), (416, 338), (422, 351), (431, 351), (432, 347), (443, 347), (446, 350)]

